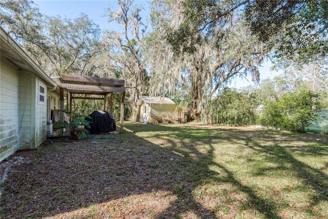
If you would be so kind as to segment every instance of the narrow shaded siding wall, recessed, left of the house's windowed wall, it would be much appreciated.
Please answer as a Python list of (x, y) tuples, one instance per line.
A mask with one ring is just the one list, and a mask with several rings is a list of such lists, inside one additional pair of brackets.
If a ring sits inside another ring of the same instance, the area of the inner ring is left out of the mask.
[(19, 150), (34, 149), (35, 75), (19, 74)]

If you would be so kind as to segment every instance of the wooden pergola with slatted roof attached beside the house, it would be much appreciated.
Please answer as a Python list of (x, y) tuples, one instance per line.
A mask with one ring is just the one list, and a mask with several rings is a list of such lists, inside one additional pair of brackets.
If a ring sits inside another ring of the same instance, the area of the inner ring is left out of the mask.
[[(110, 113), (113, 113), (114, 93), (121, 93), (120, 100), (120, 132), (123, 132), (125, 81), (121, 79), (89, 77), (73, 74), (61, 74), (59, 79), (60, 110), (64, 110), (64, 91), (66, 91), (66, 110), (72, 111), (73, 99), (102, 99), (106, 111), (107, 98), (110, 102)], [(68, 98), (68, 94), (70, 95)], [(78, 95), (76, 95), (78, 94)], [(85, 96), (80, 95), (85, 94)], [(88, 95), (89, 94), (89, 95)], [(110, 95), (108, 95), (110, 94)], [(103, 97), (99, 97), (103, 96)], [(68, 99), (70, 103), (68, 103)], [(70, 107), (68, 109), (68, 106)]]

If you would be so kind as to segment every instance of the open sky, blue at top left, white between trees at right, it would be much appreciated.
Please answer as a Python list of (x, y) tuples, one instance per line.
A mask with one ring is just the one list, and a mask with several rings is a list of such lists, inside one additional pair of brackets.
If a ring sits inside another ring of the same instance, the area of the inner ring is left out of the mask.
[[(75, 1), (66, 1), (66, 0), (34, 0), (34, 4), (39, 8), (40, 12), (48, 16), (56, 16), (64, 18), (76, 18), (81, 13), (85, 13), (88, 17), (102, 30), (114, 29), (118, 30), (118, 27), (114, 23), (108, 23), (108, 18), (105, 16), (106, 8), (111, 8), (112, 11), (117, 11), (118, 5), (116, 1), (90, 1), (90, 0), (75, 0)], [(149, 18), (149, 12), (147, 11), (148, 1), (135, 1), (136, 4), (142, 5), (145, 8), (145, 14), (142, 15)], [(267, 61), (262, 64), (262, 67), (259, 68), (260, 79), (273, 78), (279, 74), (282, 74), (280, 71), (271, 71), (271, 62)], [(252, 82), (251, 75), (248, 75), (246, 78), (235, 78), (228, 86), (241, 88), (246, 86), (255, 86)]]

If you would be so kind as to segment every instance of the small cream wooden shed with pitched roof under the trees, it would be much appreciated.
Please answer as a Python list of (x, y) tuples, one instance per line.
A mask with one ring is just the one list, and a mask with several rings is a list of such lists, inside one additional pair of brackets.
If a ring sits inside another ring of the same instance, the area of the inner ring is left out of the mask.
[(168, 97), (141, 96), (137, 103), (137, 111), (140, 122), (146, 124), (181, 118), (179, 108)]

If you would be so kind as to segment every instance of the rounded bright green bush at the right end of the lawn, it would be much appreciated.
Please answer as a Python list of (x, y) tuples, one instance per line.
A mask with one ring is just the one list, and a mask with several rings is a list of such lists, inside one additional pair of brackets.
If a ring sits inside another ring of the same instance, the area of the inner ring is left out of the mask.
[(316, 118), (316, 107), (313, 99), (316, 97), (311, 91), (284, 93), (275, 101), (267, 102), (259, 118), (263, 126), (273, 126), (292, 132), (305, 132), (305, 128)]

